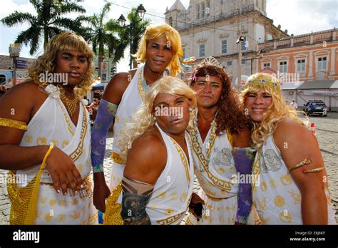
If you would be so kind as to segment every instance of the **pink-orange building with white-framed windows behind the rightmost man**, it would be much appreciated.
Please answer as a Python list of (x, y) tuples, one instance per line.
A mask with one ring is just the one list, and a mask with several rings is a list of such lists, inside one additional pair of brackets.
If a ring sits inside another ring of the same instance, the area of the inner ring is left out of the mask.
[(270, 68), (283, 83), (287, 100), (299, 106), (324, 100), (338, 110), (338, 30), (329, 29), (260, 43), (258, 71)]

